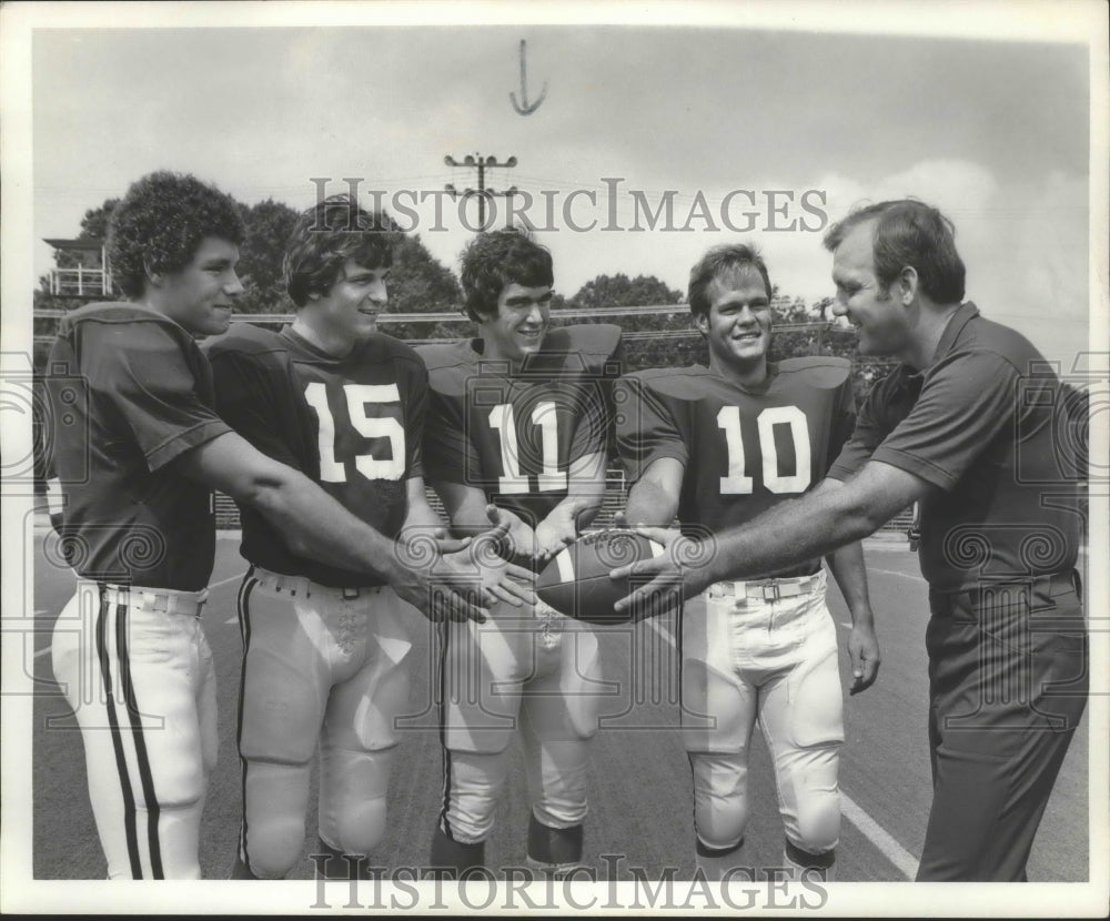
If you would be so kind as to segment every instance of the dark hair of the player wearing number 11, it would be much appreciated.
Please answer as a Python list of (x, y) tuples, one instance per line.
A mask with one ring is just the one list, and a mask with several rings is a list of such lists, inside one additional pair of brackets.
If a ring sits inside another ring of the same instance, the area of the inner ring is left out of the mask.
[(475, 323), (497, 314), (505, 285), (551, 287), (555, 283), (552, 254), (522, 227), (480, 233), (461, 259), (463, 306)]

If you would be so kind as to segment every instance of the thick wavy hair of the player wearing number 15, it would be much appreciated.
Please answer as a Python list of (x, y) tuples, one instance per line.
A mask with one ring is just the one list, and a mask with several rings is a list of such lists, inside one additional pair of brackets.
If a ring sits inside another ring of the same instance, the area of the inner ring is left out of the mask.
[(353, 259), (366, 269), (389, 269), (397, 232), (381, 211), (366, 211), (353, 195), (330, 195), (296, 219), (285, 244), (285, 290), (303, 307), (309, 295), (326, 294), (343, 264)]

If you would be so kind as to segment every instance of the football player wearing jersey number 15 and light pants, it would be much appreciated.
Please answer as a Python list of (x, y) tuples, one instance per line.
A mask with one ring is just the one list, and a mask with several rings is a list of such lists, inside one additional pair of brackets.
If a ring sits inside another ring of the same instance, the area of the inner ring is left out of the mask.
[[(239, 324), (208, 352), (221, 415), (413, 548), (420, 564), (434, 556), (442, 525), (427, 505), (421, 462), (427, 372), (412, 348), (375, 330), (393, 239), (387, 217), (350, 196), (319, 202), (286, 246), (293, 323), (280, 332)], [(408, 706), (407, 656), (420, 619), (405, 601), (414, 599), (374, 573), (289, 546), (249, 505), (242, 520), (251, 568), (239, 595), (243, 821), (234, 876), (274, 879), (295, 866), (319, 749), (320, 844), (332, 856), (324, 872), (350, 878), (347, 860), (369, 857), (385, 833), (395, 723)], [(478, 571), (467, 554), (444, 559), (474, 583), (490, 580), (509, 606), (531, 600), (521, 583), (498, 585), (508, 567)]]

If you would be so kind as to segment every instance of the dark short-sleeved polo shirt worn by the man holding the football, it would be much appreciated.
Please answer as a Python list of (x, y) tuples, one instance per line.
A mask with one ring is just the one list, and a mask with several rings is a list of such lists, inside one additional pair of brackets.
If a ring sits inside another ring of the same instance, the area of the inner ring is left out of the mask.
[(1081, 519), (1066, 418), (1041, 354), (967, 303), (928, 368), (901, 365), (875, 385), (829, 476), (847, 479), (870, 459), (939, 487), (921, 502), (934, 589), (1067, 573)]

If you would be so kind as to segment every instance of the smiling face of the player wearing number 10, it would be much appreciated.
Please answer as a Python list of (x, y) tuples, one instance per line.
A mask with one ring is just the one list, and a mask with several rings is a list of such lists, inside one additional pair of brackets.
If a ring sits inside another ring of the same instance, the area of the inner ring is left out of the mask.
[(709, 310), (695, 317), (709, 344), (709, 366), (761, 378), (770, 347), (770, 297), (763, 276), (744, 266), (715, 277), (706, 290)]

